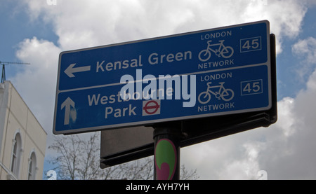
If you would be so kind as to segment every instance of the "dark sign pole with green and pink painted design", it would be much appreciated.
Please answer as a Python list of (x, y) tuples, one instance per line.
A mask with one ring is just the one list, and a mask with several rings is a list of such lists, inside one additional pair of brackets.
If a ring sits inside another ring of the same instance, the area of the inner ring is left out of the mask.
[(154, 127), (154, 180), (180, 179), (180, 128)]

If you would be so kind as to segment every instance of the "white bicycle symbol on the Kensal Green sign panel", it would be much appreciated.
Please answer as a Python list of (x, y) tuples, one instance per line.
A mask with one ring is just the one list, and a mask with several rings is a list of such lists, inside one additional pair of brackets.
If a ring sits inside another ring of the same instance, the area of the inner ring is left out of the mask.
[[(211, 41), (207, 41), (207, 48), (199, 52), (199, 60), (206, 62), (211, 58), (211, 52), (215, 53), (218, 57), (222, 56), (225, 59), (231, 57), (234, 54), (234, 49), (231, 46), (224, 46), (223, 42), (225, 40), (219, 41), (220, 43), (211, 44)], [(218, 49), (213, 49), (214, 46)]]

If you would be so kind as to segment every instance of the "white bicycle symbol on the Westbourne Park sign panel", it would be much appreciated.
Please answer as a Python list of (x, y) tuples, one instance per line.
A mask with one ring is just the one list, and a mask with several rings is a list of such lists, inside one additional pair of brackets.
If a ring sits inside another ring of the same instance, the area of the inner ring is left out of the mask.
[[(211, 94), (215, 95), (217, 99), (223, 99), (224, 101), (230, 101), (234, 97), (234, 91), (232, 89), (226, 89), (224, 87), (225, 82), (220, 82), (220, 85), (214, 85), (211, 86), (211, 82), (207, 83), (207, 90), (204, 92), (201, 92), (199, 94), (199, 97), (197, 98), (199, 100), (199, 103), (206, 104), (211, 100)], [(219, 88), (218, 91), (213, 92), (211, 89), (213, 88)]]

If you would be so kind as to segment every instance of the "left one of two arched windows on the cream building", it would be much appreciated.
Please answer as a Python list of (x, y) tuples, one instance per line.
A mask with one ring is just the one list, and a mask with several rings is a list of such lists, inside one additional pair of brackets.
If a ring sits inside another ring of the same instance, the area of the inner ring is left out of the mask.
[(16, 178), (19, 176), (20, 160), (22, 155), (22, 139), (20, 133), (16, 133), (13, 139), (12, 159), (11, 159), (11, 172)]

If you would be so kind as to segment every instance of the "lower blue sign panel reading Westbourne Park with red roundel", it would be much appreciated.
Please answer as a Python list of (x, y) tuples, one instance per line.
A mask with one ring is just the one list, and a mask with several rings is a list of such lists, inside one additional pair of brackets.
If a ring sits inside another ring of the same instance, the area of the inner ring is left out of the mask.
[[(262, 64), (173, 75), (170, 80), (166, 76), (165, 79), (151, 81), (144, 79), (143, 83), (133, 83), (135, 91), (130, 91), (133, 99), (129, 100), (122, 99), (120, 95), (127, 84), (60, 92), (54, 133), (87, 132), (268, 110), (271, 106), (269, 72), (270, 67)], [(140, 99), (140, 94), (143, 99)]]

